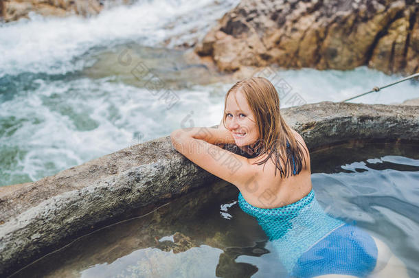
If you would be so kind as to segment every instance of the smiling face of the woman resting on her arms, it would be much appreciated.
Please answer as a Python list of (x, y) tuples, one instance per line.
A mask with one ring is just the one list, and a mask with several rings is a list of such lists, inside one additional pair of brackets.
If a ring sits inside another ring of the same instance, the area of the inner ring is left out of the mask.
[(230, 93), (225, 106), (225, 126), (231, 131), (238, 147), (248, 146), (259, 139), (259, 128), (245, 95)]

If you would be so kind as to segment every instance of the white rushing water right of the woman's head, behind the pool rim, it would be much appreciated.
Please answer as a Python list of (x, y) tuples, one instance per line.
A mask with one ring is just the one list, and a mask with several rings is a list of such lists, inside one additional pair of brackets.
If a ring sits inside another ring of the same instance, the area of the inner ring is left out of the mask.
[[(291, 86), (291, 91), (285, 97), (280, 98), (282, 108), (323, 101), (341, 102), (355, 95), (371, 91), (374, 86), (381, 87), (402, 78), (399, 75), (387, 76), (381, 71), (367, 67), (358, 67), (348, 71), (285, 70), (275, 71), (275, 74), (266, 77), (274, 85), (280, 84), (278, 80), (285, 80)], [(301, 101), (295, 101), (295, 94), (301, 97)], [(407, 81), (350, 102), (396, 104), (414, 97), (419, 97), (419, 86), (417, 82)]]

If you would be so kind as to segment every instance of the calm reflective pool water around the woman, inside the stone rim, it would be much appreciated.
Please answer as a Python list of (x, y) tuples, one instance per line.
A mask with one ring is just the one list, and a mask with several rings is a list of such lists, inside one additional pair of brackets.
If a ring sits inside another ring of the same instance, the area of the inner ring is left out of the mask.
[[(385, 242), (418, 277), (414, 144), (347, 143), (312, 152), (316, 198)], [(13, 277), (282, 277), (270, 242), (225, 182), (79, 238)]]

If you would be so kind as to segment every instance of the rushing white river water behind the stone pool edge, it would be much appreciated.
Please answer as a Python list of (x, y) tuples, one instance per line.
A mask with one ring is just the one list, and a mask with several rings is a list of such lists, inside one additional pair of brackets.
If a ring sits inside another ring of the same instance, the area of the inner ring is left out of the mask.
[[(237, 3), (137, 1), (89, 19), (31, 14), (0, 24), (0, 186), (37, 181), (176, 128), (218, 124), (236, 80), (186, 62), (174, 48), (201, 40)], [(174, 106), (133, 76), (139, 62), (179, 97)], [(365, 67), (272, 72), (272, 82), (284, 78), (291, 89), (282, 107), (341, 101), (400, 78)], [(418, 91), (403, 82), (354, 102), (403, 102)]]

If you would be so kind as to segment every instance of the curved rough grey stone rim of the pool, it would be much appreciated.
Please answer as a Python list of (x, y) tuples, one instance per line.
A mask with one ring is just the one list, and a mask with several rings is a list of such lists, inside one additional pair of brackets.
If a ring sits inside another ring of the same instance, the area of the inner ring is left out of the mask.
[[(419, 106), (333, 102), (282, 109), (310, 150), (350, 139), (417, 139), (418, 112)], [(34, 183), (0, 187), (0, 274), (10, 275), (126, 211), (216, 179), (177, 153), (170, 137), (162, 137)]]

